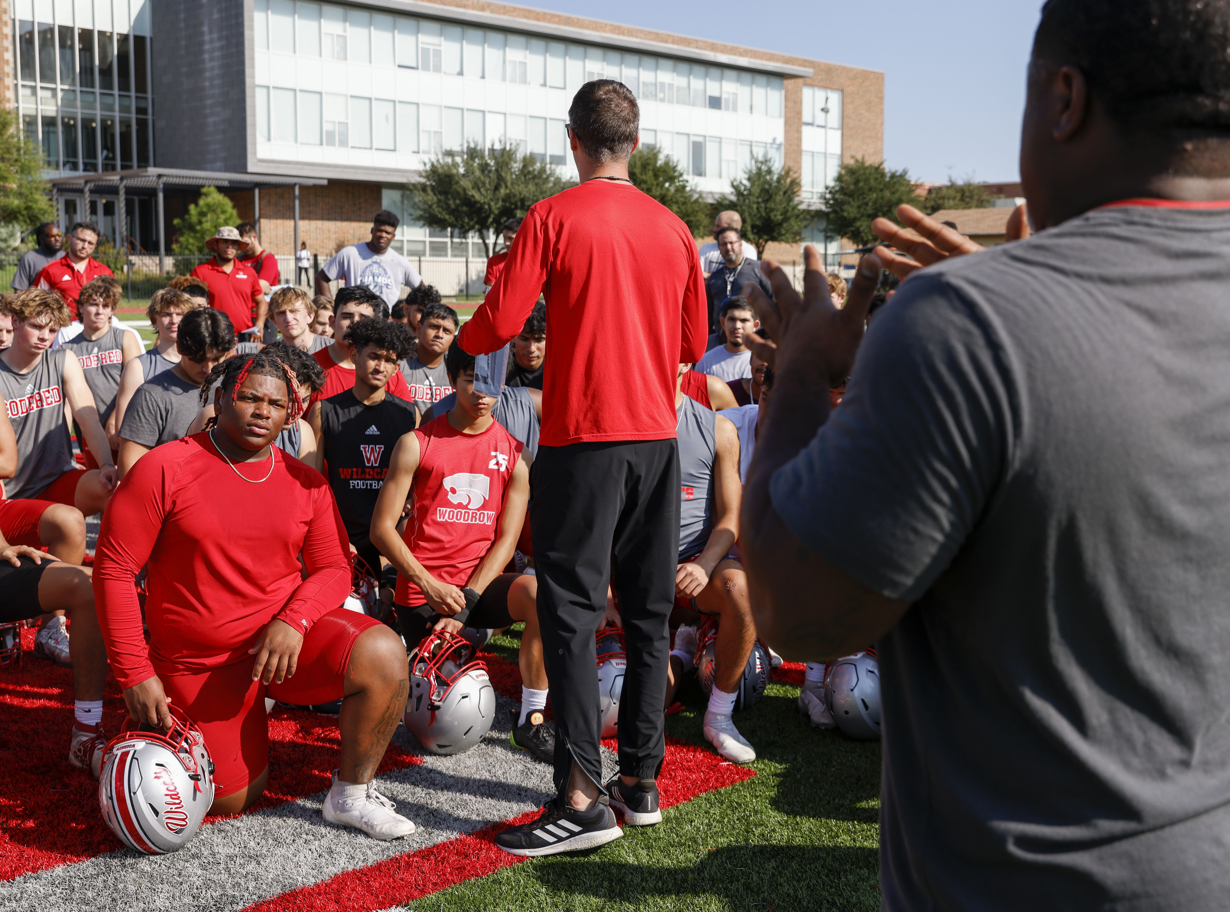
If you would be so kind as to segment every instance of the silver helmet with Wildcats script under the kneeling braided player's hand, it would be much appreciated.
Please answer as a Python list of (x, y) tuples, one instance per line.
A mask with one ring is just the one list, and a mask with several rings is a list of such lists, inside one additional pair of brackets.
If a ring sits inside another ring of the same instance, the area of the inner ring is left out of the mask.
[(148, 855), (178, 852), (214, 803), (214, 763), (200, 730), (177, 707), (166, 734), (132, 720), (102, 753), (98, 805), (111, 832)]

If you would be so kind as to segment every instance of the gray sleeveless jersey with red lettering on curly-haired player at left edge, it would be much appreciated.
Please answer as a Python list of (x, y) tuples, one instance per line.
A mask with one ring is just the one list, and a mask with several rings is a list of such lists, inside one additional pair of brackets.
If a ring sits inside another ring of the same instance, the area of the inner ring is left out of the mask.
[(0, 360), (0, 396), (17, 434), (17, 473), (5, 482), (10, 500), (43, 493), (73, 468), (73, 441), (64, 420), (64, 359), (68, 349), (44, 352), (28, 374)]

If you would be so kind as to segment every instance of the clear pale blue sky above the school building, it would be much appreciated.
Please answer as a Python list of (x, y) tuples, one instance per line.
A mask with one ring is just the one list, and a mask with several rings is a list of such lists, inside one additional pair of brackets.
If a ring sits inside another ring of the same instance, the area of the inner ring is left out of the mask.
[(1020, 178), (1025, 69), (1042, 0), (520, 5), (879, 70), (886, 165), (918, 181)]

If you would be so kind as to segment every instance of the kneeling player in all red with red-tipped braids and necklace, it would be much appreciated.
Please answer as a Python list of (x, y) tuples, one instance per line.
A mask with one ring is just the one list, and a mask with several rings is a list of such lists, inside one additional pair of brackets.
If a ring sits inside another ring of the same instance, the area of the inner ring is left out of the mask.
[[(264, 697), (342, 699), (325, 820), (407, 836), (415, 825), (371, 780), (406, 706), (406, 651), (380, 622), (338, 607), (351, 562), (328, 484), (271, 446), (299, 417), (295, 385), (264, 354), (224, 361), (214, 381), (216, 424), (141, 457), (98, 535), (98, 618), (128, 710), (166, 730), (167, 701), (183, 709), (216, 765), (210, 812), (237, 814), (269, 776)], [(260, 509), (236, 514), (253, 498)], [(135, 586), (146, 563), (148, 648)]]

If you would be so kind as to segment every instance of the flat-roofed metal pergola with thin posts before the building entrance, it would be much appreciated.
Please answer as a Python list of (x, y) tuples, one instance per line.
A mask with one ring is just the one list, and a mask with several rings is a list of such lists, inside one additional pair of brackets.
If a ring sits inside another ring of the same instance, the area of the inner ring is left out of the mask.
[(252, 191), (252, 202), (256, 213), (256, 225), (261, 225), (261, 188), (262, 187), (294, 187), (295, 189), (295, 250), (299, 250), (299, 187), (319, 187), (328, 183), (323, 178), (316, 177), (283, 177), (280, 175), (237, 175), (226, 171), (188, 171), (184, 168), (129, 168), (128, 171), (103, 171), (101, 173), (81, 173), (71, 177), (55, 177), (48, 183), (52, 184), (52, 193), (58, 195), (64, 191), (80, 191), (84, 202), (84, 211), (90, 211), (91, 189), (100, 192), (100, 195), (111, 195), (114, 189), (118, 198), (116, 205), (116, 218), (119, 225), (119, 243), (125, 248), (124, 197), (133, 189), (155, 192), (157, 199), (157, 262), (159, 270), (166, 272), (166, 232), (164, 231), (165, 214), (162, 192), (167, 187), (216, 187), (219, 189)]

